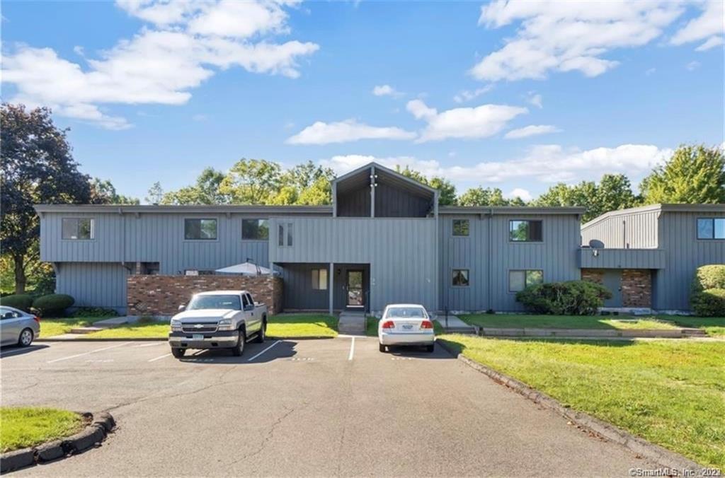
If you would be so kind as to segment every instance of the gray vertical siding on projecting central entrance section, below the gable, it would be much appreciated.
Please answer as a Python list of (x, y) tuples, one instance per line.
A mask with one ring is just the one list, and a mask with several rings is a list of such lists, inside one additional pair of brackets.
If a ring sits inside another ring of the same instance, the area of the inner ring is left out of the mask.
[[(291, 247), (278, 246), (280, 222), (293, 225)], [(371, 310), (407, 301), (437, 309), (436, 219), (278, 217), (270, 225), (270, 261), (370, 264)]]

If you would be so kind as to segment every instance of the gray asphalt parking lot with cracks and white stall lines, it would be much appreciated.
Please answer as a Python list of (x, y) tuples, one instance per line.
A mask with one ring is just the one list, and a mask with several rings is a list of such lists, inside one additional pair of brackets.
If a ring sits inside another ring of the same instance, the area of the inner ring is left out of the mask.
[(165, 342), (36, 343), (2, 353), (2, 403), (110, 411), (101, 448), (33, 476), (629, 476), (656, 468), (436, 346), (375, 338), (249, 343), (244, 356)]

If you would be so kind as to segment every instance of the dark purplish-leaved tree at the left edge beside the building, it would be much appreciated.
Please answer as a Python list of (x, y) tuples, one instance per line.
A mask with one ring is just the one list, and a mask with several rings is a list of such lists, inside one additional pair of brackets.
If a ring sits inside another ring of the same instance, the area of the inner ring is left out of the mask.
[(33, 205), (91, 198), (89, 178), (78, 172), (66, 133), (53, 124), (50, 109), (0, 106), (0, 248), (12, 258), (16, 293), (25, 292), (28, 269), (39, 261)]

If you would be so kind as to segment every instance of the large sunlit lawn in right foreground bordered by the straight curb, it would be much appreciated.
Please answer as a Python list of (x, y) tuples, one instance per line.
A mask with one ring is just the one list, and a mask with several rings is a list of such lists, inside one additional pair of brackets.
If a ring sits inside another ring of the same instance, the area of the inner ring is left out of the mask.
[(440, 338), (565, 405), (725, 469), (725, 343)]

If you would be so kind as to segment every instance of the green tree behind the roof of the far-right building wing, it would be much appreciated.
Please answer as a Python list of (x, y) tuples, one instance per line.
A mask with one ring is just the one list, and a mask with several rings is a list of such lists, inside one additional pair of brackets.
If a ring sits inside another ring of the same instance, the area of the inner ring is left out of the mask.
[(725, 155), (722, 148), (680, 146), (666, 164), (639, 186), (645, 204), (724, 204)]

